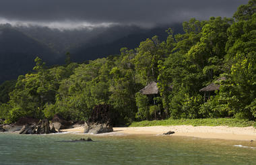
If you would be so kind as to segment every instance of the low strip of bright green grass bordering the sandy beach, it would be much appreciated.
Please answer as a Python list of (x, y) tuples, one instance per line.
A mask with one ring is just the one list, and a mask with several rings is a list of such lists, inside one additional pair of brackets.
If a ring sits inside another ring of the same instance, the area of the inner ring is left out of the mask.
[(139, 121), (133, 122), (129, 127), (146, 127), (157, 125), (193, 125), (193, 126), (220, 126), (226, 125), (229, 127), (256, 127), (255, 121), (249, 121), (246, 119), (166, 119), (166, 120), (154, 120), (154, 121)]

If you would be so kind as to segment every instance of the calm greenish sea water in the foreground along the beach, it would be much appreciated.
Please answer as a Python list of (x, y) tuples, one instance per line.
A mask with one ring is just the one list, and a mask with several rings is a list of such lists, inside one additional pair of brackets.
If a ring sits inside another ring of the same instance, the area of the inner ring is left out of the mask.
[[(86, 137), (94, 142), (68, 142)], [(0, 133), (0, 164), (256, 164), (256, 142), (164, 135)]]

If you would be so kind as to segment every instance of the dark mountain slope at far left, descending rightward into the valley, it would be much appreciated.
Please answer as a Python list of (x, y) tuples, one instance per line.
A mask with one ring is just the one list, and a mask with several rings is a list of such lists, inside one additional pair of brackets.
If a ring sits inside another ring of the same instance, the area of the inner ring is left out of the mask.
[(0, 83), (16, 79), (34, 66), (36, 56), (49, 64), (56, 60), (55, 52), (44, 44), (11, 27), (0, 27)]

